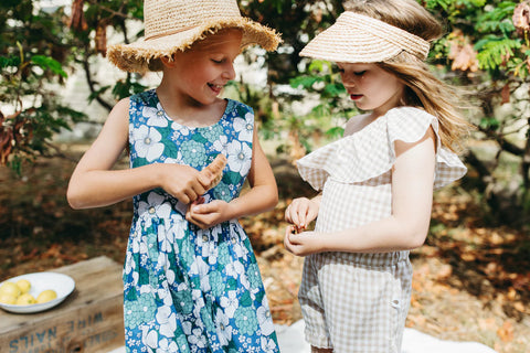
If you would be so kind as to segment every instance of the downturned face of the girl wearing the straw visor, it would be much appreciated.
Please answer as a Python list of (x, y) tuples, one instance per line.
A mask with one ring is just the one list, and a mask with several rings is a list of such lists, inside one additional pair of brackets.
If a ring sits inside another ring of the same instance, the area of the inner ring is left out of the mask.
[(350, 98), (361, 110), (384, 115), (396, 107), (404, 92), (404, 84), (395, 75), (373, 63), (337, 63)]

